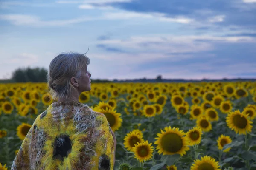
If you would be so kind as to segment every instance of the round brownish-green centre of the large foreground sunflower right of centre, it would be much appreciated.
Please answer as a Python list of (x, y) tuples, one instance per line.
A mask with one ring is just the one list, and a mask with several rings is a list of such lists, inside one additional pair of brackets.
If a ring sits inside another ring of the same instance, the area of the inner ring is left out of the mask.
[(183, 141), (181, 137), (175, 133), (167, 133), (161, 139), (161, 145), (163, 150), (167, 152), (176, 153), (183, 147)]

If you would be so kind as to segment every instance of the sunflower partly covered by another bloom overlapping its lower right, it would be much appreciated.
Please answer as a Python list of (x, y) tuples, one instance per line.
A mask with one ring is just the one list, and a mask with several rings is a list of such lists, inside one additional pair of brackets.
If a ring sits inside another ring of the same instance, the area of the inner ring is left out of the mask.
[(135, 144), (144, 142), (142, 136), (140, 136), (136, 131), (131, 131), (126, 134), (124, 138), (124, 147), (131, 151)]

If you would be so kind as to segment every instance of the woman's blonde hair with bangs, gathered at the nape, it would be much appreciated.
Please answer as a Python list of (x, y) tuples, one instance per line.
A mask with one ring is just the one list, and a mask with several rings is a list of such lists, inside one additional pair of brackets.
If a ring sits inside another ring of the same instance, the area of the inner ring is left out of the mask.
[(73, 95), (75, 88), (70, 79), (81, 77), (81, 69), (90, 64), (90, 59), (85, 54), (63, 52), (52, 59), (47, 79), (53, 99), (67, 99)]

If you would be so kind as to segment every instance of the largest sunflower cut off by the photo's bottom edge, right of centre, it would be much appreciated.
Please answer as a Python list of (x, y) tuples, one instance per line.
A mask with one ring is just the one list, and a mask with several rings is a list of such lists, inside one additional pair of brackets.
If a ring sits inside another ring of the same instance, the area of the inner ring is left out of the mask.
[(190, 167), (190, 170), (221, 170), (220, 166), (214, 158), (210, 156), (201, 157), (201, 160), (194, 160), (194, 164)]

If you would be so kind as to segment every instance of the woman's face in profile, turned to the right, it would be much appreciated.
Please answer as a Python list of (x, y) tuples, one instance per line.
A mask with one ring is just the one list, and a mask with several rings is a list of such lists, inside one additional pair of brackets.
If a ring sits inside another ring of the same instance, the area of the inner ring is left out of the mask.
[(90, 77), (92, 75), (87, 71), (87, 67), (83, 68), (81, 70), (81, 77), (79, 78), (79, 86), (78, 86), (78, 90), (79, 92), (83, 92), (83, 91), (90, 91), (91, 90), (91, 80)]

